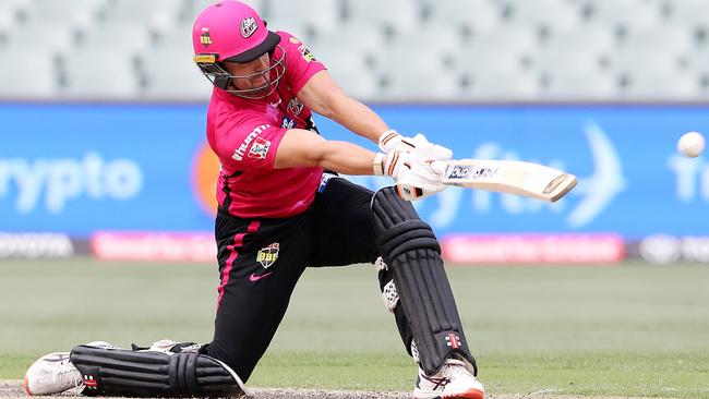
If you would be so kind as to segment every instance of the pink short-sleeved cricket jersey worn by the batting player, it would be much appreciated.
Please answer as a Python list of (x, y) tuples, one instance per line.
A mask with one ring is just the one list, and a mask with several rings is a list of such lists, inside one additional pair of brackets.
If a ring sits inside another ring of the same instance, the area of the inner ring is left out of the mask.
[[(285, 32), (286, 74), (265, 99), (244, 99), (214, 88), (207, 111), (207, 140), (219, 157), (219, 207), (243, 218), (283, 218), (305, 210), (315, 198), (322, 168), (274, 169), (288, 129), (315, 130), (312, 113), (296, 95), (325, 66)], [(280, 51), (276, 47), (275, 51)]]

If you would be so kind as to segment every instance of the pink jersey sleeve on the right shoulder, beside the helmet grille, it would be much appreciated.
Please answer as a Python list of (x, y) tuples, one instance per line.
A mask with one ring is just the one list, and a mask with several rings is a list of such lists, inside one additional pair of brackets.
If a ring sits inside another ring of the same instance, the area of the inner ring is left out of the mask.
[(308, 81), (317, 72), (325, 70), (325, 65), (315, 59), (305, 45), (295, 36), (278, 32), (281, 46), (286, 51), (286, 76), (293, 93), (298, 94)]

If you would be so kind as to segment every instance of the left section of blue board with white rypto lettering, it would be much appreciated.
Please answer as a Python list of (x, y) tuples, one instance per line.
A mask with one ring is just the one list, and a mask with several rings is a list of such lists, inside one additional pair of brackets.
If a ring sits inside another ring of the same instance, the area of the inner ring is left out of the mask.
[(0, 108), (0, 230), (207, 230), (191, 174), (203, 107)]

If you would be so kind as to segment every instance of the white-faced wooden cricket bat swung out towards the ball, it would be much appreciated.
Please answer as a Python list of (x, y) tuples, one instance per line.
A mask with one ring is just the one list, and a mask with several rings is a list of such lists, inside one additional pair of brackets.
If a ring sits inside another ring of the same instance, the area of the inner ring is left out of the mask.
[(454, 159), (433, 161), (443, 183), (555, 202), (576, 186), (576, 177), (548, 166), (518, 160)]

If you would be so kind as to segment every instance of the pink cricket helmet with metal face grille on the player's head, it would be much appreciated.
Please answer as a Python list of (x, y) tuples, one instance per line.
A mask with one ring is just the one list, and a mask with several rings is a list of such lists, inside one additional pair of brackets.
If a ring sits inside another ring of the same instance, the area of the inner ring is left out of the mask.
[[(268, 31), (259, 13), (248, 4), (224, 0), (204, 9), (192, 27), (194, 61), (202, 73), (217, 87), (240, 97), (259, 99), (273, 93), (286, 71), (285, 51), (278, 44), (280, 36)], [(274, 58), (278, 47), (279, 57)], [(271, 52), (271, 65), (251, 75), (231, 75), (221, 62), (251, 62)], [(263, 87), (239, 89), (231, 80), (263, 75)]]

